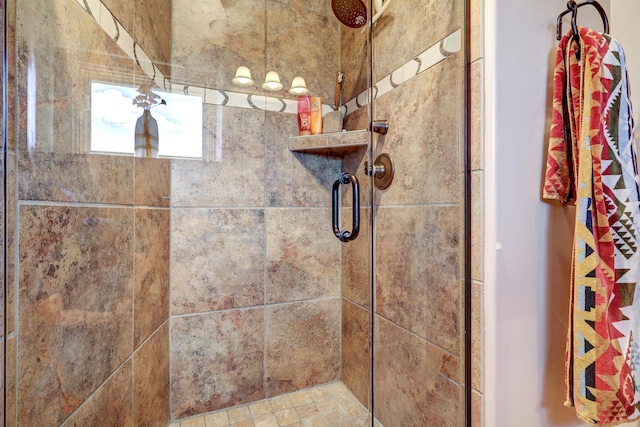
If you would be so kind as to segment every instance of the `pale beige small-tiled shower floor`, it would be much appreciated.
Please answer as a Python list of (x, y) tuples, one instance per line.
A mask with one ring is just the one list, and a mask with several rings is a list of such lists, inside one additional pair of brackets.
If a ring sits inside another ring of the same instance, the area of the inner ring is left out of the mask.
[[(196, 417), (169, 427), (366, 427), (371, 415), (341, 382), (283, 394)], [(382, 427), (376, 422), (377, 427)]]

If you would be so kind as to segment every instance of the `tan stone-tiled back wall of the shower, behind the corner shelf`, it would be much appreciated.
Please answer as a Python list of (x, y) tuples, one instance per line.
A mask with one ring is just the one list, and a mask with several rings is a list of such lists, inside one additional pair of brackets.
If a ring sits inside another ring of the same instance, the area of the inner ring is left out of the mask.
[[(237, 91), (228, 82), (245, 65), (256, 83), (243, 91), (264, 94), (275, 70), (285, 89), (301, 75), (333, 102), (328, 1), (178, 0), (172, 28), (174, 84)], [(174, 418), (340, 378), (340, 161), (289, 152), (297, 133), (294, 114), (205, 104), (204, 158), (172, 161)]]

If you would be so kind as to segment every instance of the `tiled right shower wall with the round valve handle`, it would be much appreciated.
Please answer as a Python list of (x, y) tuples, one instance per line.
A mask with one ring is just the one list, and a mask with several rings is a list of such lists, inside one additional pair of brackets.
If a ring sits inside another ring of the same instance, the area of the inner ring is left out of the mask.
[[(461, 1), (389, 5), (374, 25), (374, 82), (464, 28), (463, 8)], [(375, 415), (385, 426), (457, 426), (464, 416), (461, 54), (373, 105), (374, 119), (390, 126), (374, 136), (373, 155), (389, 153), (396, 174), (375, 193), (375, 295), (362, 271), (343, 270), (343, 380), (369, 401), (373, 299)], [(345, 169), (361, 171), (361, 157), (347, 158)], [(345, 248), (344, 265), (364, 265), (368, 250)]]

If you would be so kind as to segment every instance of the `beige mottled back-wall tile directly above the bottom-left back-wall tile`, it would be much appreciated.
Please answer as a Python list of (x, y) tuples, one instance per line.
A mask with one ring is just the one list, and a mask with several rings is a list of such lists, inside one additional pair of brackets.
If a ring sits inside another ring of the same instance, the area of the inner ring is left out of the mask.
[(173, 209), (171, 236), (173, 314), (263, 303), (262, 210)]

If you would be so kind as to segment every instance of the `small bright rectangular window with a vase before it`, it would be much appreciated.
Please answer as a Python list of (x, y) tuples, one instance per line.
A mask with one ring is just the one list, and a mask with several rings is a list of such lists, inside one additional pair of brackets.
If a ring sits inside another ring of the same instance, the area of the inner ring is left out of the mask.
[[(153, 91), (166, 104), (151, 107), (161, 157), (202, 157), (202, 98)], [(133, 154), (135, 127), (144, 108), (137, 88), (91, 83), (91, 152)]]

